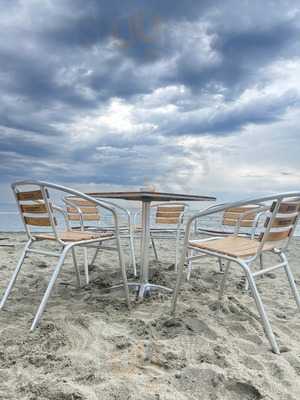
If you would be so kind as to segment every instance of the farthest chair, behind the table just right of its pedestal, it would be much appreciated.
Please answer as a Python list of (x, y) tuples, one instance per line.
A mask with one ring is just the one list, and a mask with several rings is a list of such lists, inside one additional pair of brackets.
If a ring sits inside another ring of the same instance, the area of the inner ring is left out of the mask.
[[(183, 233), (183, 218), (189, 208), (186, 203), (158, 203), (150, 207), (151, 227), (150, 240), (153, 248), (155, 259), (158, 261), (158, 253), (155, 245), (156, 239), (173, 239), (175, 240), (175, 271), (177, 271), (179, 243)], [(134, 221), (140, 216), (138, 211), (134, 216)], [(139, 227), (136, 231), (139, 231)]]

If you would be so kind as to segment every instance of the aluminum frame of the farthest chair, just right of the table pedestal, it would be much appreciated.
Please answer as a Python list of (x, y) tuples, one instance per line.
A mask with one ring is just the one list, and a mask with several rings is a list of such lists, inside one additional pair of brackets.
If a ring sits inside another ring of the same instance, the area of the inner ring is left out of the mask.
[[(150, 228), (150, 240), (151, 240), (151, 245), (154, 253), (154, 257), (156, 261), (159, 261), (158, 257), (158, 252), (156, 249), (155, 245), (155, 239), (175, 239), (175, 271), (177, 271), (177, 265), (179, 261), (179, 245), (180, 245), (180, 239), (182, 237), (183, 231), (183, 219), (186, 211), (189, 209), (189, 204), (183, 203), (183, 202), (161, 202), (161, 203), (156, 203), (152, 204), (150, 206), (150, 210), (155, 210), (158, 209), (159, 207), (165, 207), (166, 209), (168, 207), (174, 207), (174, 206), (182, 206), (183, 211), (179, 213), (178, 217), (178, 222), (175, 224), (167, 224), (167, 225), (176, 225), (176, 228), (170, 228), (170, 227), (156, 227), (156, 225), (160, 225), (159, 223), (156, 223)], [(150, 211), (151, 212), (151, 211)], [(156, 211), (157, 213), (157, 211)], [(156, 217), (155, 213), (155, 217)], [(136, 224), (137, 218), (140, 216), (141, 211), (137, 211), (134, 214), (133, 221), (134, 224)], [(173, 235), (172, 235), (173, 233)]]

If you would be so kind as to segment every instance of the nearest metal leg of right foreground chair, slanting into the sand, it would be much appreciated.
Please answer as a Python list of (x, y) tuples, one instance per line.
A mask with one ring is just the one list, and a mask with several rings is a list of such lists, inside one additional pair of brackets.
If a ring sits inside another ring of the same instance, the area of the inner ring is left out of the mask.
[(277, 341), (275, 339), (275, 335), (273, 333), (273, 329), (271, 327), (270, 321), (269, 321), (267, 313), (265, 311), (265, 307), (264, 307), (264, 304), (263, 304), (263, 302), (261, 300), (260, 294), (259, 294), (259, 292), (257, 290), (257, 286), (256, 286), (256, 283), (255, 283), (254, 277), (251, 274), (251, 271), (248, 268), (247, 264), (245, 264), (243, 262), (238, 262), (238, 264), (243, 268), (244, 272), (246, 273), (246, 277), (247, 277), (247, 280), (249, 282), (249, 286), (250, 286), (252, 295), (254, 297), (258, 313), (259, 313), (259, 315), (261, 317), (261, 320), (262, 320), (262, 325), (263, 325), (266, 337), (268, 338), (268, 340), (269, 340), (269, 342), (271, 344), (272, 350), (273, 350), (274, 353), (280, 354), (280, 350), (279, 350)]

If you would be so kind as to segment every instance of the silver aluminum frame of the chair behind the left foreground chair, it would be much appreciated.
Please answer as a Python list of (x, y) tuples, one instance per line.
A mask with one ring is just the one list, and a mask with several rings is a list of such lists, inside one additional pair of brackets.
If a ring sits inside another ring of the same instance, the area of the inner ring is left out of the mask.
[[(73, 196), (74, 197), (74, 196)], [(80, 229), (81, 230), (85, 230), (85, 231), (103, 231), (103, 230), (113, 230), (114, 228), (112, 226), (100, 226), (100, 225), (96, 225), (96, 226), (86, 226), (85, 225), (85, 215), (86, 213), (82, 210), (82, 208), (80, 207), (80, 205), (76, 204), (76, 201), (74, 201), (74, 199), (72, 199), (72, 197), (68, 196), (64, 198), (64, 202), (67, 206), (70, 206), (74, 209), (76, 209), (77, 214), (79, 215), (79, 223), (80, 223)], [(120, 236), (121, 238), (127, 238), (129, 239), (129, 248), (130, 248), (130, 265), (132, 265), (133, 268), (133, 274), (136, 277), (137, 276), (137, 269), (136, 269), (136, 258), (135, 258), (135, 249), (134, 249), (134, 237), (133, 237), (133, 228), (132, 228), (132, 216), (129, 210), (127, 210), (125, 207), (120, 206), (119, 204), (115, 204), (112, 201), (108, 201), (108, 200), (103, 200), (101, 199), (101, 203), (102, 204), (107, 204), (110, 207), (113, 207), (115, 210), (118, 210), (119, 212), (122, 212), (125, 214), (126, 219), (127, 219), (127, 226), (120, 226), (119, 230), (120, 230)], [(68, 219), (70, 218), (70, 213), (67, 212), (67, 217)], [(97, 222), (97, 224), (99, 224), (100, 222), (100, 214), (99, 217), (95, 220), (89, 220), (92, 222)], [(124, 234), (124, 232), (126, 232)], [(89, 246), (89, 247), (94, 247), (94, 246)], [(99, 250), (100, 250), (101, 246), (95, 246), (95, 252), (94, 255), (91, 259), (90, 264), (94, 264), (98, 254), (99, 254)], [(89, 262), (88, 262), (88, 252), (87, 252), (87, 248), (84, 248), (84, 273), (85, 273), (85, 280), (86, 280), (86, 284), (88, 285), (90, 282), (89, 279)]]

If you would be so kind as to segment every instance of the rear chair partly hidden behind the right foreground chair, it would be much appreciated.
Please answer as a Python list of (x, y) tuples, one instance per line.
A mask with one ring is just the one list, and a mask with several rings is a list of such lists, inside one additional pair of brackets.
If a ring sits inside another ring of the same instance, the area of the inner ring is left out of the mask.
[[(209, 208), (215, 207), (211, 206)], [(239, 233), (239, 235), (244, 235), (246, 237), (251, 237), (252, 239), (255, 236), (255, 232), (257, 230), (258, 224), (261, 220), (261, 216), (268, 209), (267, 206), (263, 204), (247, 204), (241, 207), (229, 207), (226, 208), (221, 214), (221, 220), (219, 226), (216, 229), (209, 228), (207, 226), (198, 226), (198, 219), (194, 221), (194, 233), (205, 234), (208, 236), (228, 236), (233, 235), (234, 233)], [(213, 221), (214, 223), (216, 221)], [(207, 221), (206, 221), (207, 225)], [(243, 230), (241, 230), (243, 228)], [(193, 241), (190, 240), (190, 243)], [(196, 240), (197, 242), (197, 240)], [(192, 273), (192, 260), (193, 257), (193, 249), (190, 250), (189, 254), (189, 263), (188, 263), (188, 273), (187, 280), (190, 279)], [(205, 254), (203, 254), (205, 256)], [(223, 272), (224, 265), (222, 260), (218, 258), (219, 269), (220, 272)], [(262, 255), (260, 255), (260, 263), (262, 265)]]

